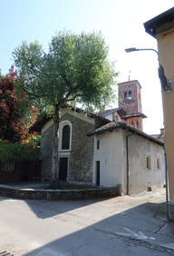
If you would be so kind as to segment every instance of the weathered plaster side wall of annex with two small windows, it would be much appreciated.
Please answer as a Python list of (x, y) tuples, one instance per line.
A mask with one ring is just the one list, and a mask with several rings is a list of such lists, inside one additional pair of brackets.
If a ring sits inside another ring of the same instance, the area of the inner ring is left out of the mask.
[[(127, 130), (123, 131), (124, 155), (126, 157), (126, 136), (131, 134)], [(137, 135), (136, 133), (128, 137), (129, 151), (129, 171), (130, 171), (130, 193), (147, 191), (162, 187), (165, 183), (164, 150), (163, 146), (150, 142), (150, 140)], [(147, 168), (147, 156), (150, 156), (150, 169)], [(157, 159), (160, 161), (160, 168), (157, 166)], [(123, 192), (127, 192), (127, 160), (124, 159), (124, 182)]]

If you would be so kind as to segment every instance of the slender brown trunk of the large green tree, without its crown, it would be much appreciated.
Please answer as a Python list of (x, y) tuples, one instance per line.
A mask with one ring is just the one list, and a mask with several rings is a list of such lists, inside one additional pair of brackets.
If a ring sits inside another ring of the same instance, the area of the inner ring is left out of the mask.
[(54, 117), (53, 117), (53, 166), (52, 166), (52, 179), (50, 187), (53, 190), (61, 189), (59, 181), (59, 153), (58, 153), (58, 144), (59, 144), (59, 122), (60, 122), (60, 105), (54, 105)]

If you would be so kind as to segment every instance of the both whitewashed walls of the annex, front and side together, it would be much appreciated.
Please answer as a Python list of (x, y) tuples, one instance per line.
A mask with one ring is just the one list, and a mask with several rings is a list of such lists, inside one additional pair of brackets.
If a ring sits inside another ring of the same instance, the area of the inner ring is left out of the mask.
[[(121, 183), (122, 192), (127, 193), (127, 130), (117, 130), (96, 135), (94, 138), (94, 161), (92, 182), (96, 183), (96, 161), (100, 161), (100, 185), (112, 187)], [(100, 149), (97, 150), (97, 141)], [(164, 150), (157, 143), (134, 133), (129, 137), (129, 171), (130, 193), (147, 191), (162, 187), (165, 182)], [(147, 156), (150, 156), (151, 166), (147, 168)], [(160, 159), (160, 169), (157, 167)]]

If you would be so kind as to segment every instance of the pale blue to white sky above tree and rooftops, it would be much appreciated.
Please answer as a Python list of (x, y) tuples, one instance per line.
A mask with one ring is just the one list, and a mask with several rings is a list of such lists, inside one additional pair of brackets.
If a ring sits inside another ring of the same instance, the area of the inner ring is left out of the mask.
[[(14, 64), (12, 53), (23, 41), (39, 41), (45, 51), (56, 31), (76, 34), (102, 31), (110, 46), (110, 60), (120, 72), (118, 83), (138, 80), (142, 87), (145, 133), (160, 133), (163, 127), (158, 57), (153, 51), (127, 54), (126, 48), (158, 50), (155, 38), (143, 24), (169, 10), (173, 0), (0, 0), (0, 68), (7, 74)], [(117, 105), (113, 105), (117, 107)]]

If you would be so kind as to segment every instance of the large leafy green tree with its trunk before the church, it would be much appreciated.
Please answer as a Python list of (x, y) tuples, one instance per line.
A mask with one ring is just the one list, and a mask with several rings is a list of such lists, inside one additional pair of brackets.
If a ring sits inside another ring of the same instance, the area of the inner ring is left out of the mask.
[(14, 49), (19, 84), (16, 92), (53, 110), (53, 172), (51, 188), (59, 188), (58, 130), (64, 103), (82, 103), (86, 110), (99, 108), (114, 98), (113, 64), (108, 60), (109, 47), (101, 33), (73, 34), (59, 32), (53, 36), (48, 53), (35, 41)]

